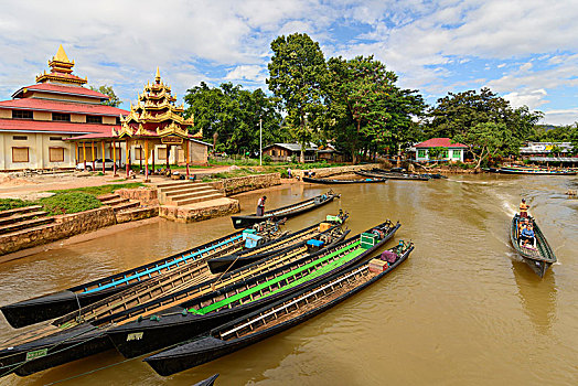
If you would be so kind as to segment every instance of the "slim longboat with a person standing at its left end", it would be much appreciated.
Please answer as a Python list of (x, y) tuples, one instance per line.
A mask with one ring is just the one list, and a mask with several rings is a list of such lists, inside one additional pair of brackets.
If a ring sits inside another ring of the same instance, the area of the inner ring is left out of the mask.
[(339, 199), (340, 196), (340, 194), (335, 194), (332, 191), (329, 191), (325, 194), (320, 194), (309, 200), (282, 206), (272, 211), (266, 211), (263, 216), (257, 216), (257, 214), (250, 214), (244, 216), (231, 216), (231, 219), (233, 221), (233, 227), (235, 229), (246, 228), (251, 226), (253, 224), (261, 223), (267, 219), (295, 217), (301, 213), (309, 212), (322, 205), (325, 205), (332, 202), (333, 199)]

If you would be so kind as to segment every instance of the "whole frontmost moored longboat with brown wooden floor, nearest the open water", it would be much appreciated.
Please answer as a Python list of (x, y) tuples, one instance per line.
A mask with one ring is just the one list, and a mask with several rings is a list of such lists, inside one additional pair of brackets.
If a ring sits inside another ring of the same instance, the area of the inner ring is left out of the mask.
[(211, 330), (207, 336), (162, 351), (144, 358), (144, 362), (158, 374), (168, 376), (298, 325), (384, 278), (407, 259), (414, 245), (394, 249), (397, 253), (396, 261), (382, 272), (373, 271), (370, 261), (357, 264), (278, 302), (222, 324)]

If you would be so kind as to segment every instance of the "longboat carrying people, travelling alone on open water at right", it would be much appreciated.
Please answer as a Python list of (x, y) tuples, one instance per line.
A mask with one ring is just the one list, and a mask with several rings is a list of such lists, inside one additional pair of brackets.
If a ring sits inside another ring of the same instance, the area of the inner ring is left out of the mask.
[(557, 261), (554, 250), (552, 250), (546, 237), (542, 233), (536, 221), (528, 216), (529, 223), (534, 227), (535, 248), (526, 248), (520, 245), (520, 215), (516, 213), (512, 218), (510, 227), (510, 240), (517, 254), (540, 278), (544, 277), (549, 266)]

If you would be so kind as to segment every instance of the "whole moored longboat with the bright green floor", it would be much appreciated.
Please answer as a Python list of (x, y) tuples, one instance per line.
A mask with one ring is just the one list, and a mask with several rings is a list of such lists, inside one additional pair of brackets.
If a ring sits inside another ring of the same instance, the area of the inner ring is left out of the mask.
[[(330, 248), (309, 255), (307, 247), (289, 249), (296, 260), (221, 290), (181, 301), (154, 318), (133, 320), (107, 331), (116, 349), (135, 357), (185, 341), (251, 312), (365, 258), (389, 239), (398, 224), (386, 222)], [(267, 261), (267, 260), (265, 260)], [(179, 294), (185, 299), (186, 294)], [(117, 323), (118, 324), (118, 323)]]

